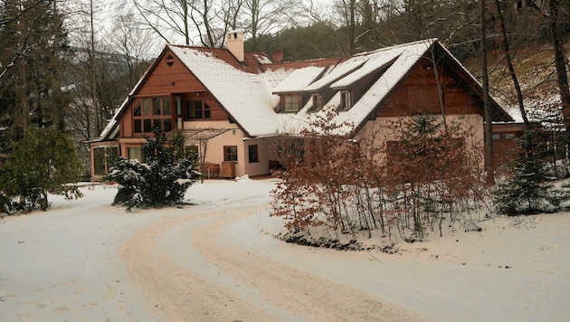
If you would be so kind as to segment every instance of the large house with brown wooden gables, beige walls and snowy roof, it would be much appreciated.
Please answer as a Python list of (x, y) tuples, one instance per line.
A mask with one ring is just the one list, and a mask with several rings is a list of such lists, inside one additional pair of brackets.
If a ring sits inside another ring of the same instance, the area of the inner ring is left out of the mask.
[[(91, 142), (91, 173), (101, 179), (109, 154), (144, 161), (143, 134), (161, 127), (184, 132), (204, 175), (265, 175), (273, 161), (268, 137), (299, 134), (327, 109), (358, 137), (443, 107), (447, 118), (477, 128), (482, 142), (481, 97), (480, 83), (435, 39), (342, 59), (271, 62), (244, 52), (242, 32), (233, 31), (226, 49), (166, 45)], [(513, 120), (495, 100), (492, 111), (493, 121)]]

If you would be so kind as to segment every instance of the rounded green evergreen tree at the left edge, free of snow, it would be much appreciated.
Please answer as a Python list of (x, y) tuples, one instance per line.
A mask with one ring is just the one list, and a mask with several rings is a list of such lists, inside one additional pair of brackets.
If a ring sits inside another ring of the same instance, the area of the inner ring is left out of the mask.
[(80, 174), (71, 139), (55, 128), (35, 128), (14, 145), (0, 171), (0, 190), (6, 200), (19, 200), (8, 204), (10, 210), (31, 211), (39, 205), (45, 211), (48, 192), (68, 199), (81, 197), (76, 185), (68, 185), (77, 182)]

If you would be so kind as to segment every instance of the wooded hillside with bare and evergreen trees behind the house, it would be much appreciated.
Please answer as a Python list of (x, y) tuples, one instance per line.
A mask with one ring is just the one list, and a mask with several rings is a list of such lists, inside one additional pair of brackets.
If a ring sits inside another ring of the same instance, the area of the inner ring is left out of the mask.
[(28, 132), (53, 128), (74, 143), (88, 179), (88, 141), (157, 52), (223, 48), (234, 29), (246, 50), (283, 61), (437, 38), (486, 93), (518, 109), (527, 157), (533, 124), (570, 128), (565, 1), (0, 0), (0, 166)]

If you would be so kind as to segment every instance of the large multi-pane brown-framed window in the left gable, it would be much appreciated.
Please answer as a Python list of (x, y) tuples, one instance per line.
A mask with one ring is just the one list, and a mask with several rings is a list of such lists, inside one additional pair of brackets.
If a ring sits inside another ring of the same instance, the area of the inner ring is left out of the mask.
[(135, 133), (150, 133), (153, 128), (172, 131), (172, 106), (169, 96), (137, 99), (133, 106)]

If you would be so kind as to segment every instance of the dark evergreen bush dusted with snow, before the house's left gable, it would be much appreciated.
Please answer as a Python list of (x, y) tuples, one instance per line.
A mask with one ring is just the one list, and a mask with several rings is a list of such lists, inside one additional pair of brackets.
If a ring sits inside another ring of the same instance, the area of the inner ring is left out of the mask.
[(147, 163), (120, 157), (106, 177), (119, 184), (113, 204), (125, 205), (128, 211), (182, 204), (186, 190), (200, 175), (195, 171), (196, 156), (177, 156), (176, 147), (166, 146), (161, 130), (154, 134), (142, 147)]

